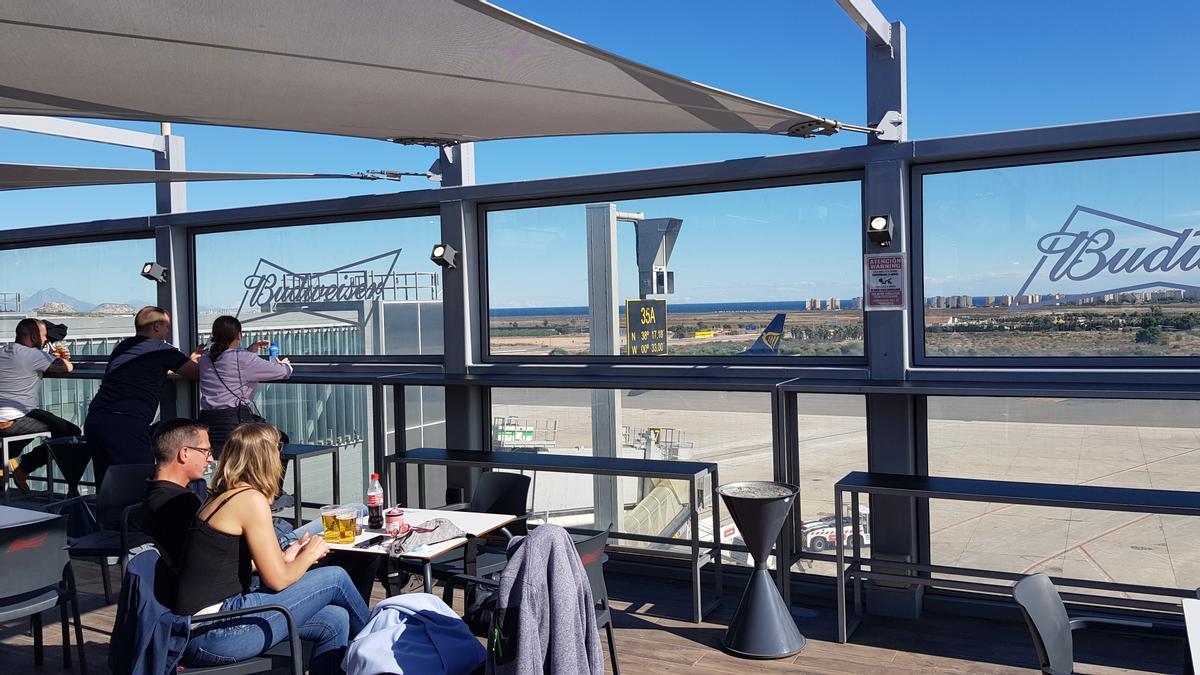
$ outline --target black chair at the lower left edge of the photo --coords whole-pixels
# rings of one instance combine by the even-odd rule
[[[71,668],[67,605],[74,617],[79,671],[88,673],[79,596],[67,556],[67,521],[49,518],[0,530],[0,622],[29,617],[34,633],[34,664],[42,664],[42,613],[59,608],[62,621],[62,665]],[[11,665],[11,664],[10,664]]]

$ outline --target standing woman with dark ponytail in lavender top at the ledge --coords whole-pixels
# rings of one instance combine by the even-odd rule
[[[259,358],[258,350],[269,344],[262,340],[242,348],[240,321],[218,316],[212,322],[212,345],[200,357],[200,422],[209,425],[214,455],[220,456],[235,426],[262,419],[251,410],[258,383],[292,376],[288,359]]]

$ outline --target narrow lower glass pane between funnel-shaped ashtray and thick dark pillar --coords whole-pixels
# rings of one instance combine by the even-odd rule
[[[833,485],[851,471],[866,471],[866,399],[842,394],[798,394],[800,450],[800,549],[832,554],[838,530],[833,518]],[[870,508],[859,507],[859,537],[870,555]],[[846,506],[848,518],[850,506]],[[844,536],[851,536],[848,521]],[[850,539],[847,539],[850,543]],[[796,572],[834,575],[833,562],[802,560]]]

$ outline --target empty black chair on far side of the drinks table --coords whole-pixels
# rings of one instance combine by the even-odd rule
[[[488,471],[479,477],[475,491],[470,501],[466,503],[446,504],[442,510],[469,510],[474,513],[496,513],[515,515],[517,520],[504,530],[511,538],[516,534],[528,532],[528,501],[529,501],[529,477],[520,473],[504,473]],[[433,578],[443,583],[443,597],[450,604],[454,593],[454,581],[456,577],[467,573],[468,546],[475,556],[475,575],[487,577],[504,571],[508,565],[508,556],[502,546],[492,546],[470,542],[467,546],[457,548],[433,558]],[[420,566],[406,561],[397,561],[396,566],[404,572],[421,574]]]

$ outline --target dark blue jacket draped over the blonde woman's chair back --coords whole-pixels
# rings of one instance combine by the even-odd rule
[[[130,558],[116,603],[108,668],[116,675],[174,675],[187,646],[191,617],[176,616],[155,597],[158,550]]]

